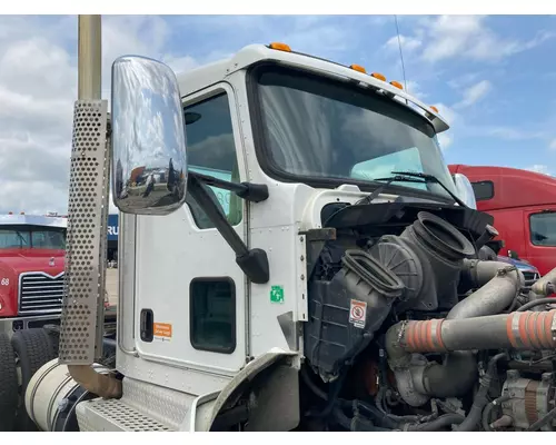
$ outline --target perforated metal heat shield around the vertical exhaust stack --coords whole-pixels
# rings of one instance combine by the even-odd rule
[[[59,360],[90,365],[102,353],[109,150],[106,100],[73,110],[66,274]]]

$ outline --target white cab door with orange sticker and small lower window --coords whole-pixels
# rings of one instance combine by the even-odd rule
[[[185,102],[190,170],[246,180],[236,99],[228,83]],[[245,202],[209,187],[246,241]],[[232,249],[190,197],[167,217],[138,218],[137,349],[141,357],[217,374],[246,363],[246,278]]]

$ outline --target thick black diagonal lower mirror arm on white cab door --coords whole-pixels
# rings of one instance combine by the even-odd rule
[[[191,174],[188,171],[187,191],[202,208],[207,217],[210,219],[226,239],[226,243],[231,247],[236,254],[236,263],[244,274],[258,285],[268,283],[270,279],[270,270],[268,267],[268,256],[262,249],[248,249],[239,235],[234,230],[234,227],[228,222],[220,208],[211,199],[208,194],[205,181],[198,177],[199,174]],[[203,176],[203,175],[201,175]],[[210,178],[210,177],[208,177]],[[266,187],[266,186],[265,186]]]

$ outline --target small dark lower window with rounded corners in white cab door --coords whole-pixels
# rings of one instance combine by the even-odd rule
[[[236,286],[231,278],[195,278],[189,286],[190,339],[196,349],[236,349]]]

